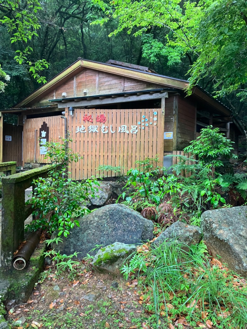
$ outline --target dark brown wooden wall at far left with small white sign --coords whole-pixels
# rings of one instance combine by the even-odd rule
[[[16,161],[16,166],[22,165],[22,126],[3,124],[3,162]],[[5,140],[11,136],[11,141]]]

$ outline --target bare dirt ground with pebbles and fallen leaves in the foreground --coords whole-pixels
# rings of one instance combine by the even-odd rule
[[[148,324],[155,325],[154,318],[142,307],[137,279],[126,282],[83,263],[74,277],[56,275],[47,266],[28,302],[9,310],[12,328],[154,328]]]

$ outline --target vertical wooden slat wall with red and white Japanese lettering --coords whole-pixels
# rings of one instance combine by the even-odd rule
[[[100,115],[105,116],[105,123],[96,122]],[[160,157],[159,165],[163,165],[163,121],[161,109],[75,109],[74,116],[68,116],[68,129],[73,139],[72,148],[79,153],[80,160],[72,164],[72,178],[115,176],[111,171],[99,172],[98,166],[121,166],[126,172],[135,167],[135,161],[154,158],[156,154]],[[128,133],[121,132],[121,126],[122,129],[126,126]],[[133,129],[131,133],[131,126],[137,126],[136,134]],[[90,132],[92,128],[96,131]]]

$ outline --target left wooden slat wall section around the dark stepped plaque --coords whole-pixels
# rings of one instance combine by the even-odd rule
[[[59,141],[59,136],[64,138],[64,119],[60,115],[26,119],[23,125],[23,164],[33,163],[35,159],[37,163],[49,162],[48,159],[44,159],[45,155],[40,154],[39,131],[43,122],[49,127],[49,141]],[[36,133],[35,129],[37,129]],[[35,134],[36,154],[34,154]]]

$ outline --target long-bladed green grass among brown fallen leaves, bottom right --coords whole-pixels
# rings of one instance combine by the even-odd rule
[[[122,273],[125,279],[138,273],[140,300],[156,315],[157,327],[160,320],[193,328],[247,326],[246,282],[210,259],[203,242],[189,252],[176,242],[144,245]]]

